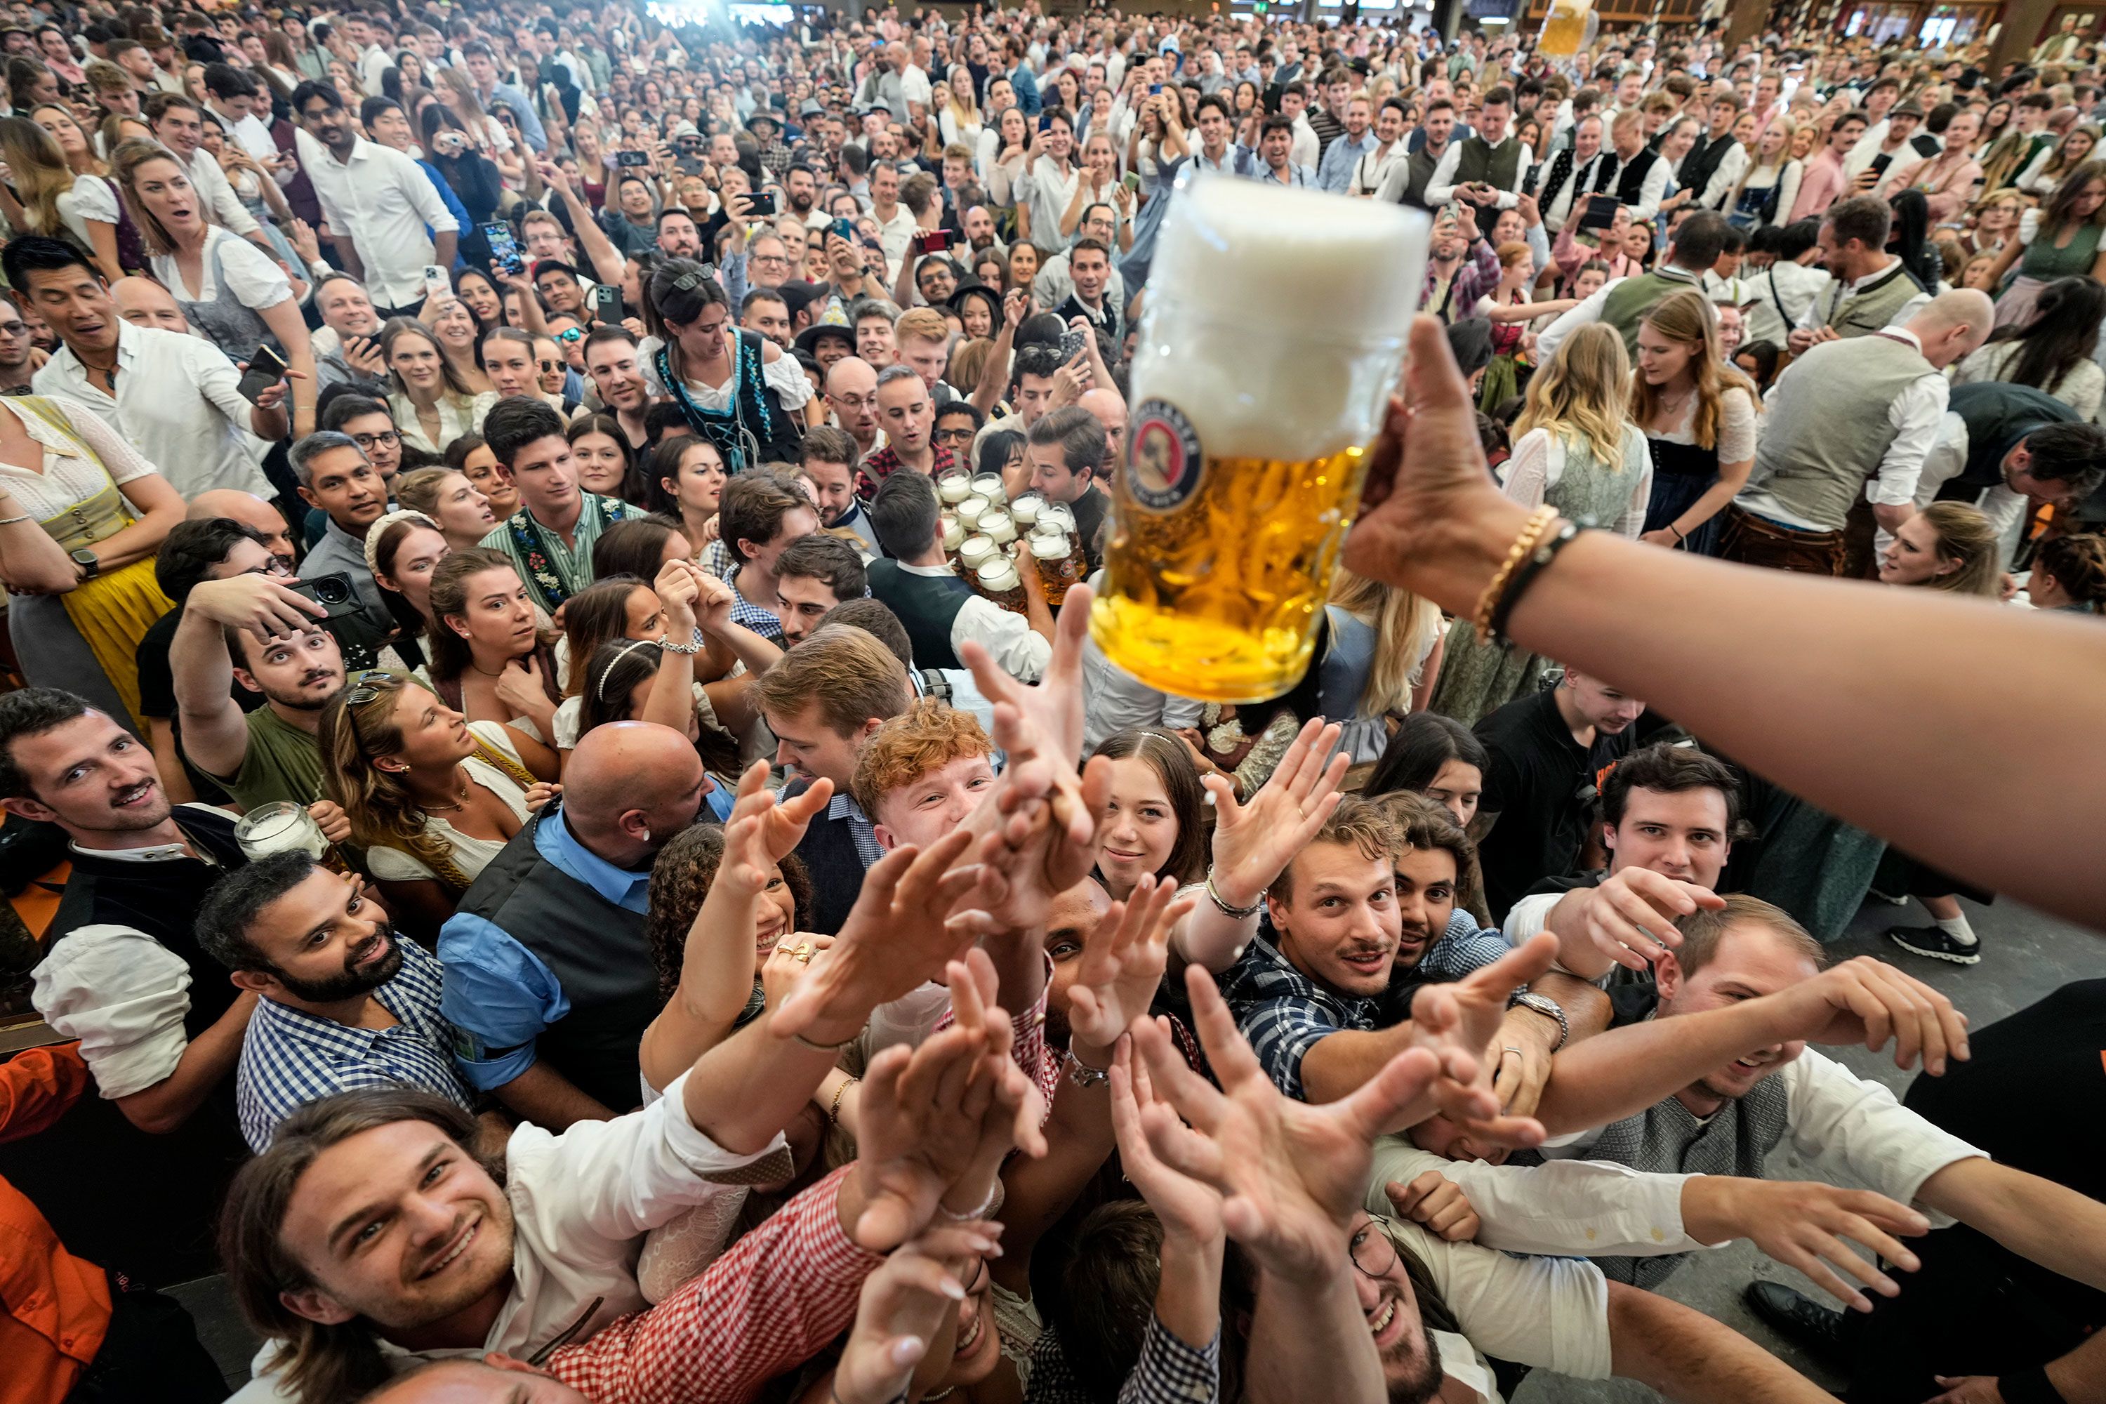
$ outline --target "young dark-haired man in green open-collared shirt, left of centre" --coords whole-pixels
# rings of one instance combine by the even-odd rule
[[[577,486],[577,459],[562,427],[562,415],[533,396],[499,400],[482,421],[499,476],[520,493],[520,509],[482,545],[512,558],[548,613],[592,583],[592,543],[600,533],[642,516],[625,501]]]

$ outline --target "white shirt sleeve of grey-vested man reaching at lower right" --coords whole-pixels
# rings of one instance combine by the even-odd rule
[[[1843,1189],[1874,1189],[1919,1208],[1933,1229],[1952,1227],[1952,1217],[1916,1204],[1916,1191],[1948,1164],[1986,1151],[1910,1111],[1883,1084],[1860,1078],[1813,1048],[1773,1076],[1784,1080],[1786,1095],[1780,1147],[1790,1147],[1815,1179]],[[1542,1154],[1546,1160],[1575,1158],[1601,1141],[1603,1130],[1596,1126],[1552,1137]]]

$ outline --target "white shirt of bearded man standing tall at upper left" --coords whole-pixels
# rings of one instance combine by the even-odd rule
[[[459,232],[459,221],[438,198],[423,166],[394,147],[358,137],[352,158],[339,162],[307,133],[295,133],[299,164],[314,181],[322,217],[337,236],[350,236],[364,263],[366,290],[381,307],[423,301],[423,265],[436,259],[432,236]]]

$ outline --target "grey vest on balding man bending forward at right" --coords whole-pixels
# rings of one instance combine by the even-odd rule
[[[1893,444],[1887,406],[1933,366],[1900,337],[1857,337],[1824,341],[1788,375],[1763,417],[1750,486],[1822,530],[1843,530],[1864,480]]]

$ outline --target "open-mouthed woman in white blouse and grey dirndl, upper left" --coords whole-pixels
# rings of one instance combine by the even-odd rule
[[[204,198],[166,147],[126,141],[110,164],[139,225],[147,265],[190,326],[238,362],[259,345],[278,352],[293,368],[293,434],[314,434],[320,389],[314,343],[284,269],[249,240],[206,223]]]

